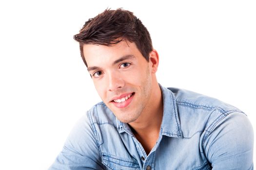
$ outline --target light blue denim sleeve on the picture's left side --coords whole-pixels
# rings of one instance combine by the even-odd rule
[[[87,115],[73,128],[49,170],[103,170]]]

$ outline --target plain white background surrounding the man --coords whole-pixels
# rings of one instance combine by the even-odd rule
[[[228,102],[256,131],[255,0],[0,2],[0,170],[46,170],[97,92],[73,35],[107,7],[142,20],[158,82]]]

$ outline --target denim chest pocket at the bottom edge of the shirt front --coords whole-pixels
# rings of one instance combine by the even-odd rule
[[[140,170],[136,160],[126,159],[107,153],[102,153],[102,163],[109,170]]]

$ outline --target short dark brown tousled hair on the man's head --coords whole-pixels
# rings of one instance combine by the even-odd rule
[[[74,35],[79,42],[80,53],[84,64],[84,44],[113,46],[122,40],[134,42],[149,61],[149,53],[153,50],[150,34],[142,22],[132,12],[118,8],[106,9],[103,13],[85,22],[79,34]]]

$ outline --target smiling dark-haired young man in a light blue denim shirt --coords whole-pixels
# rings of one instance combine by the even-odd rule
[[[253,170],[253,129],[234,106],[158,84],[158,52],[129,11],[105,10],[74,38],[102,102],[50,170]]]

